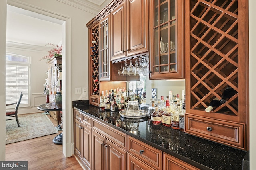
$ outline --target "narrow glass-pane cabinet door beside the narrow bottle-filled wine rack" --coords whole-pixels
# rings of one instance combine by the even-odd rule
[[[100,21],[100,80],[110,80],[109,17]]]

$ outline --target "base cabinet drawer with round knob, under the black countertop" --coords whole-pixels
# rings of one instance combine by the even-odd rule
[[[128,136],[128,152],[143,160],[146,164],[161,169],[162,151],[158,150],[138,139]]]

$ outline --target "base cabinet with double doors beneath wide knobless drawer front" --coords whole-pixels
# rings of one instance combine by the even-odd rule
[[[93,169],[126,170],[126,134],[93,120]]]

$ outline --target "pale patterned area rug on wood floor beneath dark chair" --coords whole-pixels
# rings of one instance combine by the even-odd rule
[[[18,127],[16,119],[6,121],[5,144],[58,133],[45,114],[31,113],[18,115],[18,119],[20,127]]]

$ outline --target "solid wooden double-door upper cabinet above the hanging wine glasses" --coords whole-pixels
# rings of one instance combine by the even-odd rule
[[[110,15],[111,61],[148,52],[148,0],[126,0]]]

